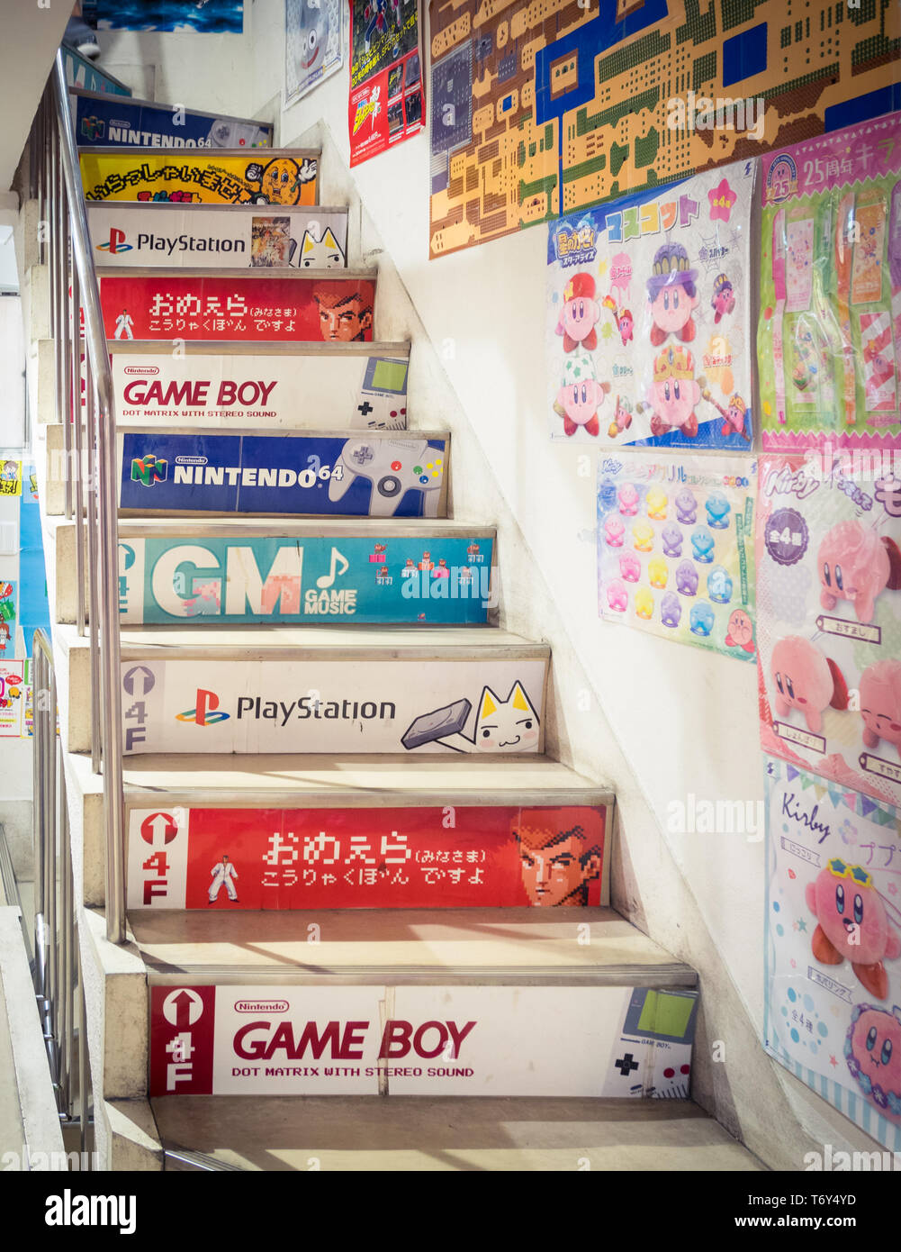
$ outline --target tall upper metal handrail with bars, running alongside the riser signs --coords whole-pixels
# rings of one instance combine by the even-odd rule
[[[121,764],[121,651],[119,642],[119,535],[118,468],[115,461],[115,403],[100,310],[100,290],[91,259],[88,213],[78,150],[69,111],[69,91],[61,51],[56,54],[49,83],[46,121],[51,136],[44,165],[45,193],[50,197],[51,283],[54,338],[58,342],[58,407],[66,452],[66,513],[74,511],[78,578],[78,630],[85,620],[91,651],[91,687],[98,694],[91,719],[94,771],[103,765],[106,826],[106,936],[125,942],[125,845]],[[59,158],[56,160],[55,158]],[[60,177],[61,175],[61,177]],[[66,212],[68,210],[68,212]],[[71,297],[69,295],[70,255]],[[88,424],[88,583],[90,616],[85,613],[83,493],[83,432],[79,308],[84,312],[85,409]],[[71,429],[70,429],[71,421]],[[70,436],[74,433],[74,448]],[[73,461],[74,453],[74,461]],[[96,477],[94,476],[96,471]],[[71,481],[75,482],[74,510]],[[96,507],[94,507],[96,500]]]

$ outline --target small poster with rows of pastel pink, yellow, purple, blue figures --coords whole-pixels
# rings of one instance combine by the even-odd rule
[[[756,483],[747,458],[602,457],[603,621],[753,661]]]

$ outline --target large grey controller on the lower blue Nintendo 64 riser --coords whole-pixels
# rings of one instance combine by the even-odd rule
[[[437,517],[445,459],[447,444],[428,439],[348,439],[339,457],[345,472],[329,480],[329,500],[342,500],[360,477],[372,483],[370,517],[392,517],[408,491],[423,493],[423,517]]]

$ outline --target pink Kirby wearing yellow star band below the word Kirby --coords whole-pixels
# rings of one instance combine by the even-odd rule
[[[817,919],[811,952],[821,965],[850,960],[860,983],[883,1000],[888,994],[885,960],[901,957],[901,936],[888,921],[882,896],[860,865],[833,856],[805,889]]]

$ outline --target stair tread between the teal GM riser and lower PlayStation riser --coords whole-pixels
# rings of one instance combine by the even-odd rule
[[[70,652],[88,650],[90,641],[80,636],[74,626],[58,626],[58,641]],[[486,651],[496,656],[512,654],[514,659],[548,657],[549,645],[536,644],[499,630],[496,626],[474,629],[473,626],[368,626],[352,622],[340,626],[210,626],[208,631],[198,632],[196,626],[123,626],[120,630],[123,661],[148,659],[161,660],[209,656],[235,651],[242,660],[254,660],[257,654],[287,660],[303,661],[307,654],[317,654],[315,659],[339,660],[342,656],[365,659],[369,651],[403,654],[415,652],[423,659],[448,657],[454,652],[468,656],[473,651],[483,655]],[[319,655],[328,652],[328,656]],[[214,657],[215,659],[215,657]]]

